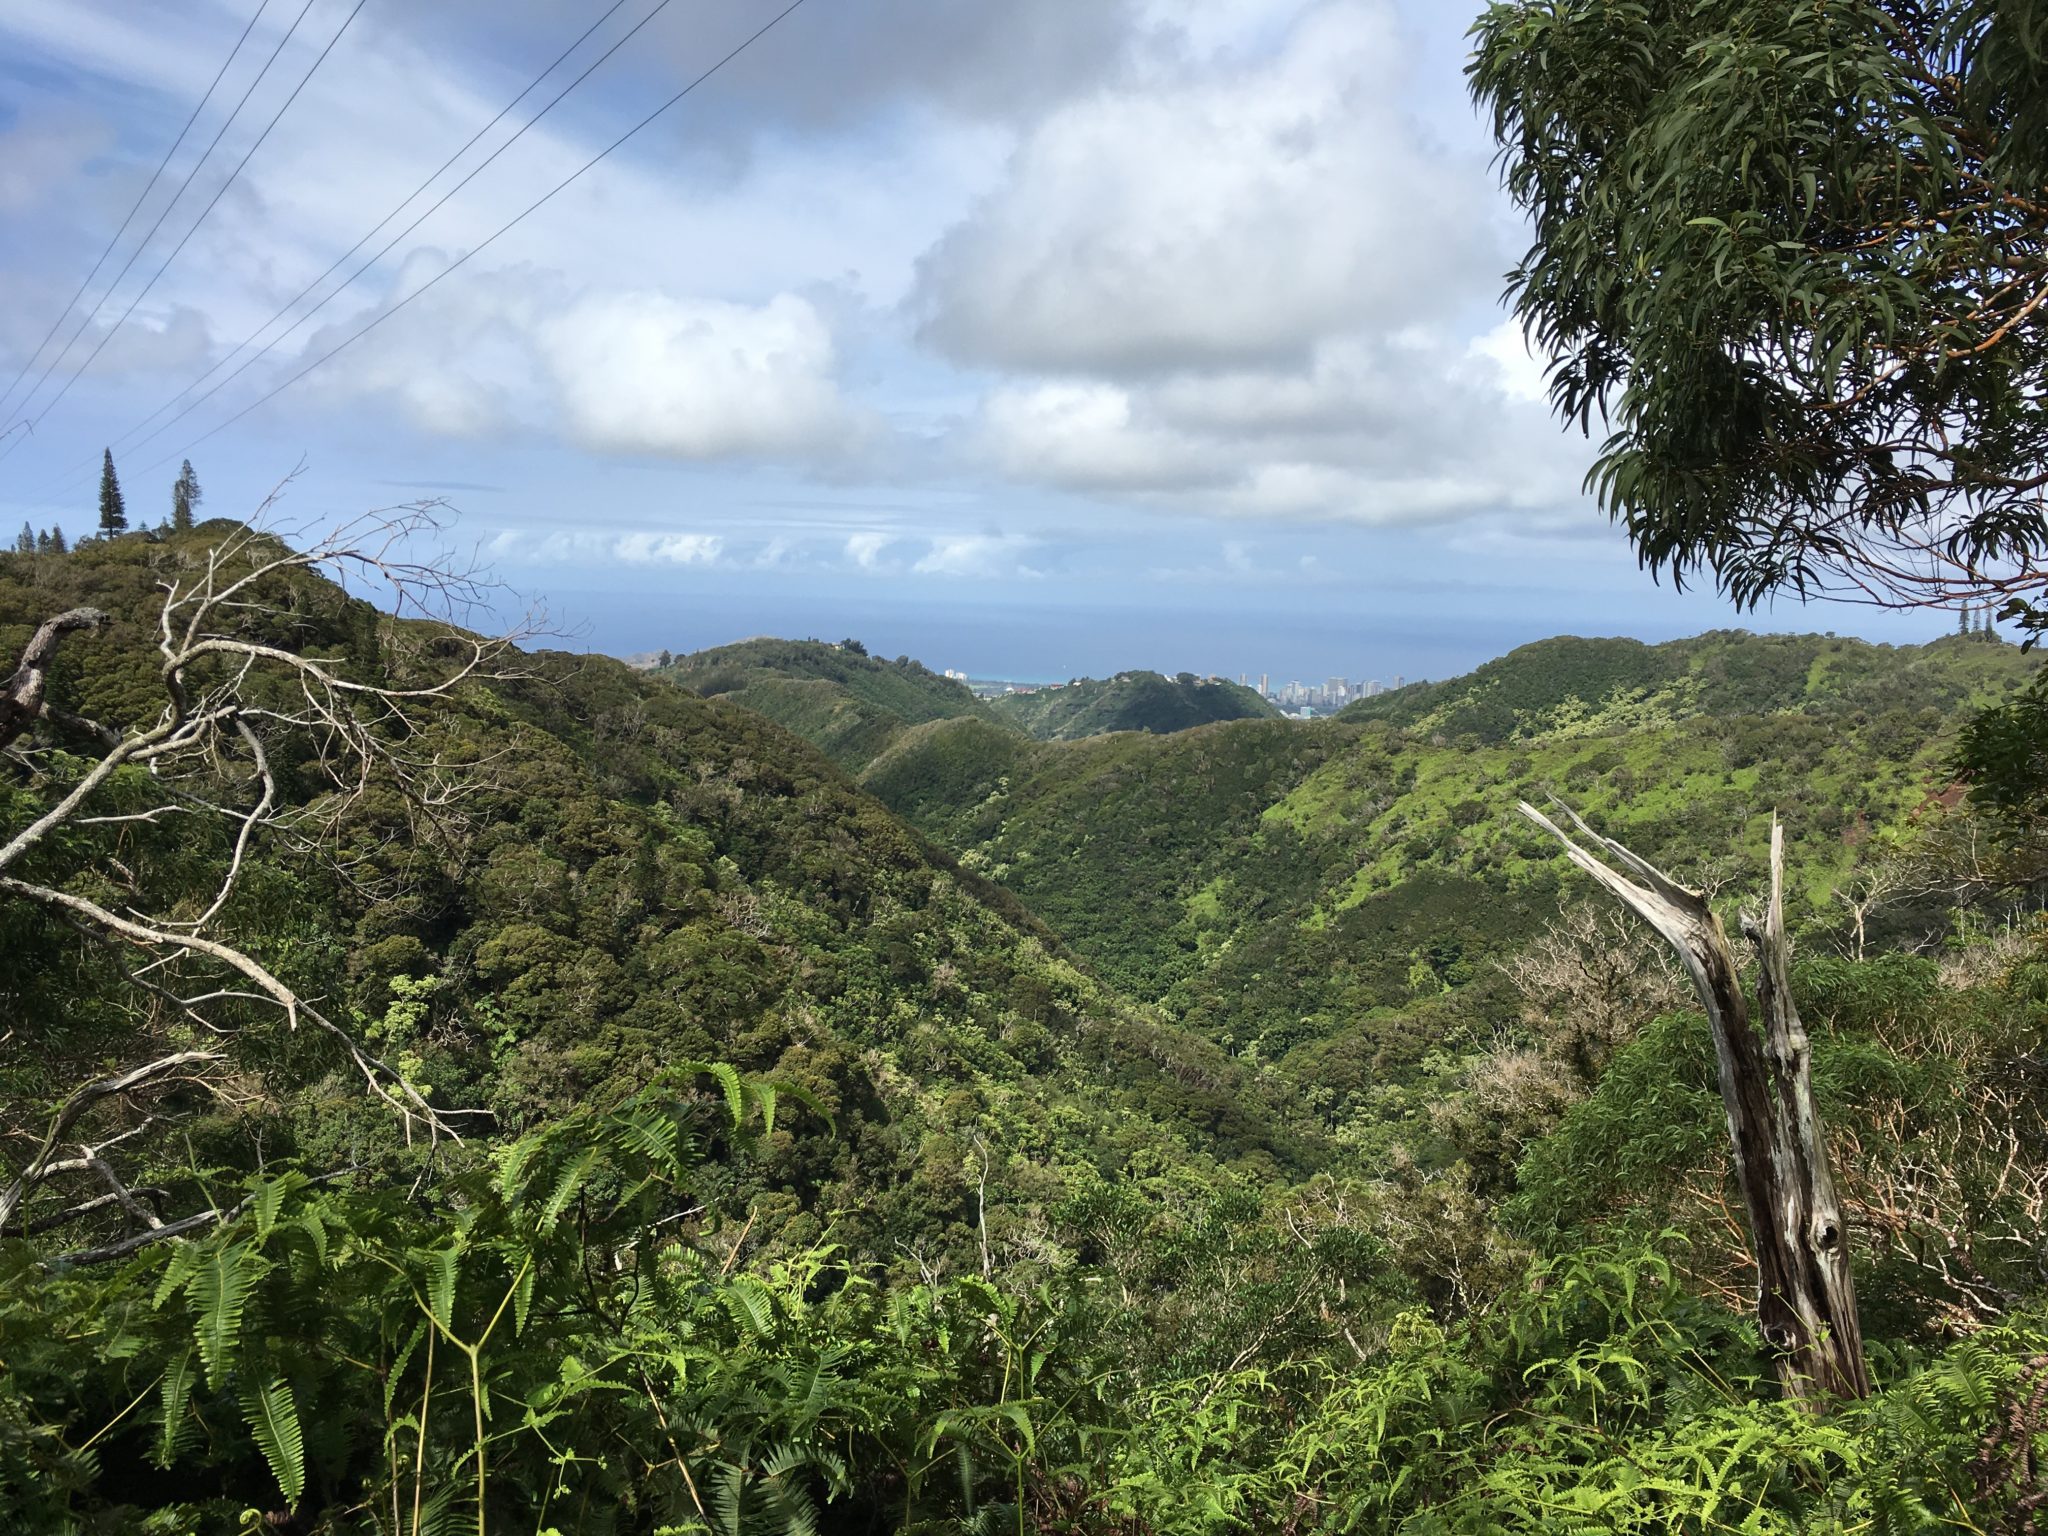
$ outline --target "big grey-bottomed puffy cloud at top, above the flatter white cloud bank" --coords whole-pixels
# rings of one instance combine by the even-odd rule
[[[1237,55],[1069,102],[922,264],[924,336],[993,367],[1272,365],[1462,301],[1485,186],[1405,123],[1393,10],[1307,12]],[[1491,274],[1491,272],[1489,272]]]

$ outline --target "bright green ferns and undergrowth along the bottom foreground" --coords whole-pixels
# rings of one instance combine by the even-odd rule
[[[1626,1081],[1690,1075],[1645,1051]],[[1903,1534],[2019,1528],[2044,1489],[2040,1313],[1888,1331],[1882,1391],[1817,1415],[1688,1280],[1710,1225],[1438,1317],[1327,1192],[1104,1190],[1036,1276],[739,1270],[698,1198],[762,1110],[676,1073],[418,1198],[262,1176],[203,1241],[16,1268],[0,1497],[25,1530]],[[1597,1182],[1577,1147],[1538,1192]]]

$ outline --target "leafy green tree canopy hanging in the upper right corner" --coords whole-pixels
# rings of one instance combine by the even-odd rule
[[[1509,293],[1645,565],[1745,606],[2040,600],[2044,49],[2038,0],[1487,8]]]

